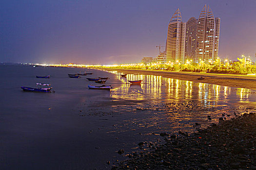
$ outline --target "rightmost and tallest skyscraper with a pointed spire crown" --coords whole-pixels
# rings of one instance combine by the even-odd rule
[[[220,18],[204,5],[197,21],[197,49],[195,62],[215,60],[218,56]]]

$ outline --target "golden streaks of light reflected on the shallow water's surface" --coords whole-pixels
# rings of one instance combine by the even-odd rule
[[[121,87],[110,93],[113,100],[112,112],[138,114],[126,120],[125,126],[131,129],[136,129],[134,122],[137,122],[139,127],[152,128],[152,131],[161,129],[175,133],[182,130],[191,133],[196,130],[195,122],[199,122],[202,127],[217,123],[221,117],[231,119],[238,109],[238,102],[250,102],[251,98],[255,98],[250,95],[254,94],[250,89],[154,75],[128,74],[124,78],[119,76],[123,73],[110,72],[118,75],[118,79],[123,82]],[[128,80],[143,82],[140,85],[130,85]],[[207,116],[212,119],[207,119]],[[118,127],[120,126],[121,123]]]

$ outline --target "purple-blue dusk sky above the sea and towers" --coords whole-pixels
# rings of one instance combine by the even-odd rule
[[[221,18],[219,56],[256,61],[256,0],[4,0],[0,62],[140,62],[165,45],[177,8],[186,22],[205,3]]]

